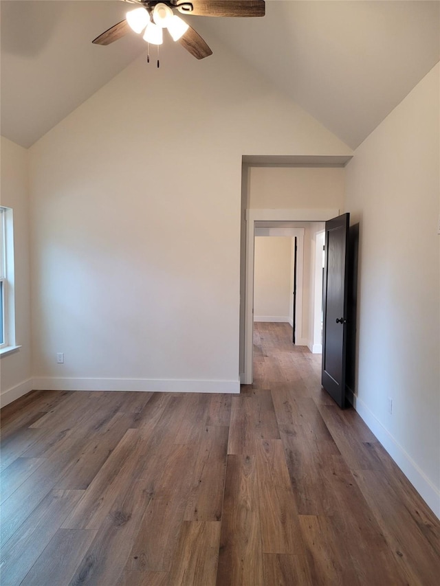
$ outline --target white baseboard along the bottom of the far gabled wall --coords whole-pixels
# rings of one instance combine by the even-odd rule
[[[240,381],[186,381],[181,379],[71,379],[35,377],[37,391],[136,391],[170,393],[239,393]]]

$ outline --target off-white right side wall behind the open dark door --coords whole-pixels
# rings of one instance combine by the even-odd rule
[[[347,166],[360,223],[356,409],[437,515],[439,89],[437,65]]]

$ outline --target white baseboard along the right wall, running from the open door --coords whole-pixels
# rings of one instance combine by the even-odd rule
[[[376,418],[373,412],[371,412],[371,409],[365,405],[364,401],[353,394],[351,390],[347,391],[349,402],[362,417],[366,425],[373,431],[376,438],[388,454],[391,455],[391,458],[393,458],[397,466],[399,466],[399,469],[408,478],[422,499],[440,519],[440,489],[432,484],[430,479],[417,466],[416,462],[412,460],[410,455],[406,453],[388,429]]]

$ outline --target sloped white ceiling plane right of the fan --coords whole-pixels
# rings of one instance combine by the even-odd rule
[[[343,142],[356,148],[440,58],[437,0],[267,0],[264,19],[203,19]]]

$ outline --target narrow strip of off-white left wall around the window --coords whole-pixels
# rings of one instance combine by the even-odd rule
[[[1,205],[14,216],[15,334],[19,350],[0,359],[1,405],[32,390],[28,151],[1,137]]]

